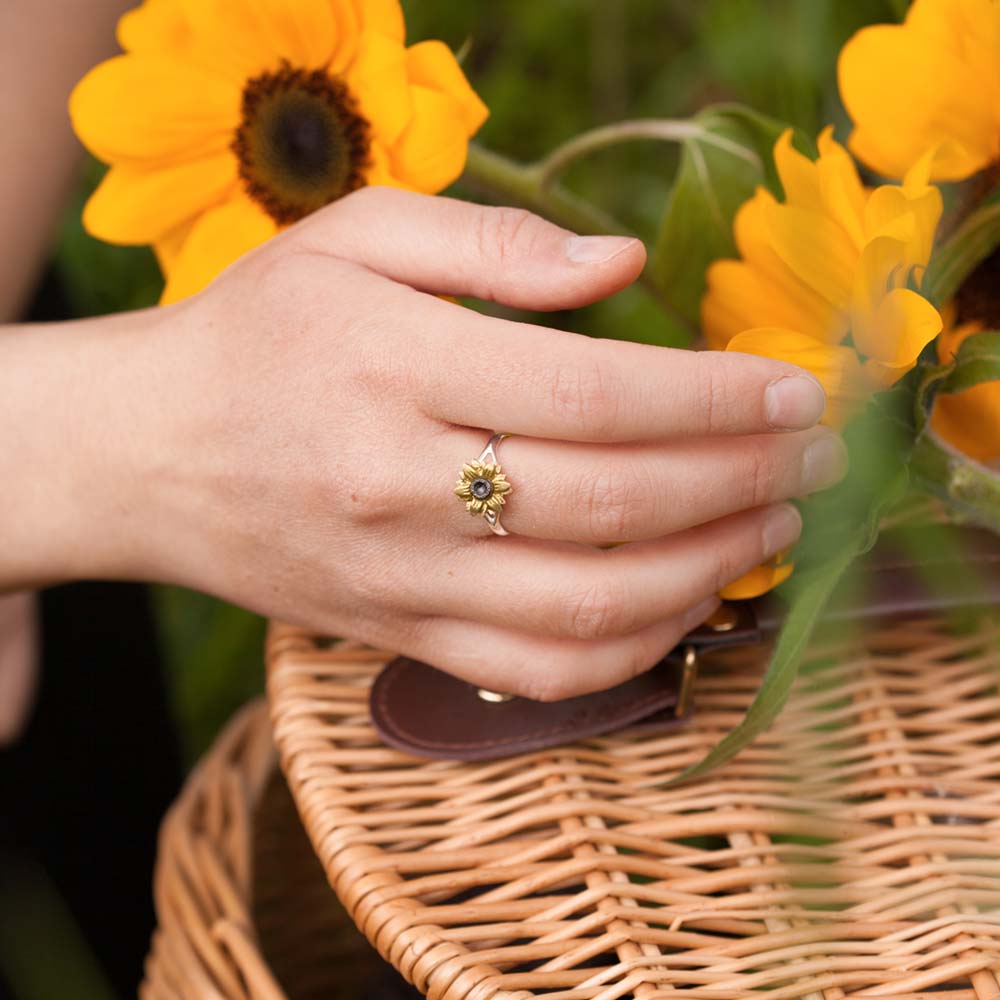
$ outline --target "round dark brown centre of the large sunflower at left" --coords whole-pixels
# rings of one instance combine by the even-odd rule
[[[286,63],[247,81],[232,148],[247,193],[287,225],[364,184],[368,132],[340,80]]]

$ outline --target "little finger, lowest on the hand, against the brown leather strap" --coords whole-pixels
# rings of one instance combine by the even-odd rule
[[[472,684],[534,701],[603,691],[658,663],[718,606],[600,642],[546,639],[459,619],[432,618],[413,630],[408,655]]]

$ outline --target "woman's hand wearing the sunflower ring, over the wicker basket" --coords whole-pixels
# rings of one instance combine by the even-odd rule
[[[80,503],[104,518],[90,530],[115,535],[93,569],[531,698],[648,668],[721,587],[796,540],[782,501],[842,475],[839,439],[814,426],[822,390],[764,358],[593,340],[436,297],[570,309],[643,260],[636,240],[368,189],[142,329],[101,331],[117,373],[104,391],[121,398],[105,403],[118,426],[81,431],[114,484],[109,501],[93,466],[85,477]],[[514,435],[499,450],[507,538],[453,493],[494,430]],[[598,547],[611,542],[631,544]]]

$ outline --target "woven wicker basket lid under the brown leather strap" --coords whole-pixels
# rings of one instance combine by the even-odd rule
[[[275,740],[331,885],[432,1000],[1000,997],[1000,626],[821,637],[780,722],[671,788],[760,650],[713,656],[681,729],[489,764],[383,747],[383,659],[273,629]]]

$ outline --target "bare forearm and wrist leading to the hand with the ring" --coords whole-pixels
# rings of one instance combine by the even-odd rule
[[[148,315],[0,328],[0,592],[141,574]]]

